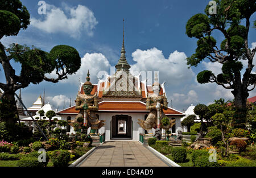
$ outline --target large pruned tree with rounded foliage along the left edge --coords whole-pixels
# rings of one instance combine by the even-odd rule
[[[20,29],[26,30],[29,24],[30,14],[19,0],[0,1],[0,40],[3,36],[18,35]],[[15,73],[11,61],[20,64],[20,74]],[[77,72],[81,67],[81,57],[75,48],[68,45],[57,45],[50,52],[46,52],[34,46],[20,44],[11,44],[6,48],[0,42],[0,64],[6,78],[6,84],[0,82],[0,88],[5,92],[4,98],[13,106],[10,110],[16,113],[16,90],[26,88],[31,83],[56,83],[68,78],[68,74]],[[48,78],[46,74],[53,71],[57,77]],[[15,119],[10,116],[7,122],[15,122]]]

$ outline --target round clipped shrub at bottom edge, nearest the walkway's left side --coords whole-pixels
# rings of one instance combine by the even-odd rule
[[[51,161],[54,167],[66,167],[70,158],[70,153],[67,150],[55,150],[51,154]]]

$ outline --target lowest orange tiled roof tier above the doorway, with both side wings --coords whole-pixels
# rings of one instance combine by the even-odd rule
[[[125,101],[102,101],[98,105],[99,112],[109,112],[109,111],[126,111],[126,112],[149,112],[146,110],[146,104],[143,102],[125,102]],[[75,110],[75,106],[69,107],[67,109],[61,110],[58,114],[77,114],[79,111]],[[164,113],[167,115],[184,115],[180,111],[174,110],[168,107],[167,110],[164,110]]]

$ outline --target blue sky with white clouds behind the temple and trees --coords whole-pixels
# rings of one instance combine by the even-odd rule
[[[220,97],[232,99],[230,90],[216,84],[197,84],[196,74],[204,69],[220,71],[220,65],[207,60],[197,68],[187,69],[185,58],[196,49],[196,39],[185,35],[185,24],[192,15],[203,13],[209,1],[178,0],[96,0],[96,1],[45,1],[46,15],[38,14],[38,1],[22,0],[31,15],[27,30],[18,36],[1,39],[4,45],[19,43],[35,45],[45,51],[59,44],[75,47],[82,57],[80,72],[57,84],[41,82],[22,90],[26,106],[46,89],[47,100],[63,109],[75,100],[79,86],[78,78],[84,81],[86,69],[90,69],[91,80],[97,83],[97,72],[109,72],[117,64],[122,44],[122,19],[125,19],[126,59],[134,70],[160,71],[160,82],[166,81],[169,104],[175,109],[186,110],[191,104],[209,104]],[[72,14],[73,12],[73,14]],[[76,15],[79,14],[79,15]],[[251,22],[255,20],[251,16]],[[64,18],[59,18],[64,17]],[[72,20],[71,20],[72,19]],[[214,33],[217,41],[224,37]],[[256,45],[256,34],[250,29],[249,45]],[[145,58],[145,56],[150,58]],[[255,60],[254,60],[255,63]],[[16,73],[19,65],[12,63]],[[170,65],[167,67],[166,65]],[[1,67],[0,67],[1,68]],[[85,71],[85,72],[84,72]],[[254,70],[255,71],[255,70]],[[0,82],[5,82],[3,70]],[[255,96],[255,91],[250,97]],[[57,100],[57,101],[56,101]],[[68,104],[67,104],[68,103]]]

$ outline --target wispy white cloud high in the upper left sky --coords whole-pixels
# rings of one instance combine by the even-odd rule
[[[93,36],[93,29],[97,25],[97,20],[93,11],[86,6],[60,7],[47,5],[46,17],[41,19],[31,18],[31,26],[48,33],[64,32],[73,38],[78,38],[81,34]],[[65,13],[64,13],[65,11]]]

